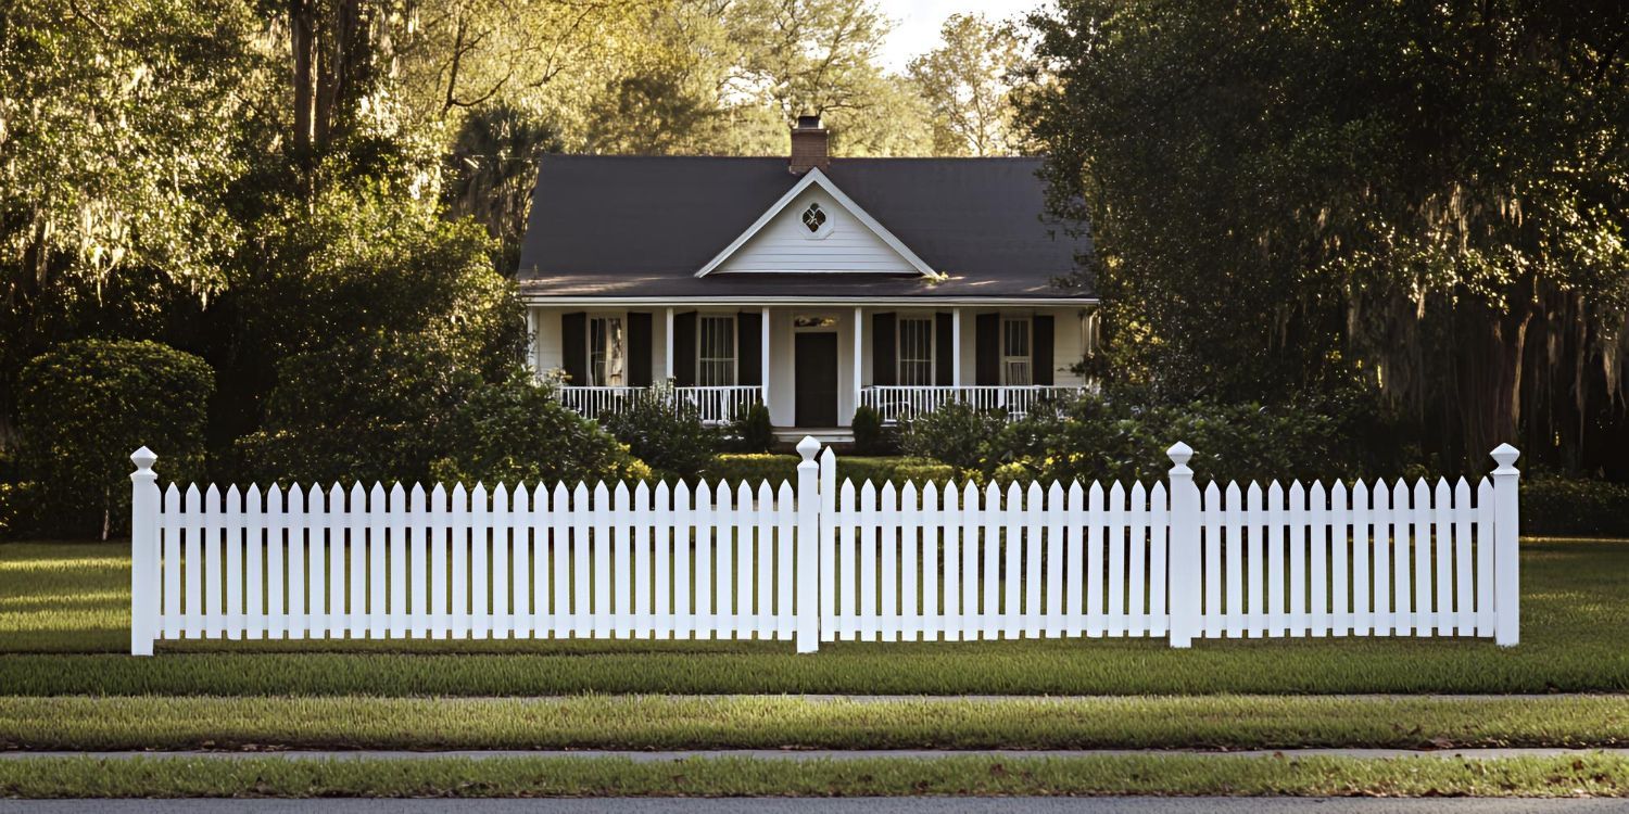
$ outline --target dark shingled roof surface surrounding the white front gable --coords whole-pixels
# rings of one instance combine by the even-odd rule
[[[836,158],[828,177],[948,280],[696,272],[800,181],[785,158],[541,161],[520,280],[533,296],[1091,298],[1087,239],[1044,217],[1038,158]]]

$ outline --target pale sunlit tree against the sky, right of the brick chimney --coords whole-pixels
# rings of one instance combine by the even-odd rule
[[[984,15],[951,15],[942,46],[911,60],[907,73],[933,116],[937,155],[1012,155],[1018,151],[1008,99],[1025,68],[1025,44],[1010,23]]]

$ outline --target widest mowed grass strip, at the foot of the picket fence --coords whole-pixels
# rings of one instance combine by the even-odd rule
[[[135,659],[122,544],[0,545],[15,695],[1629,692],[1629,540],[1523,540],[1521,645],[1443,638],[976,643],[184,641]],[[267,658],[266,653],[280,653]],[[582,658],[582,656],[595,658]]]

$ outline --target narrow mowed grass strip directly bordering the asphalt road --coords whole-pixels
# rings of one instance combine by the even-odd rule
[[[1225,755],[862,760],[279,757],[0,760],[11,798],[609,798],[609,796],[1626,796],[1629,759]]]

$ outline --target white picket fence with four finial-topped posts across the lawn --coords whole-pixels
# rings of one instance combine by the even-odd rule
[[[130,651],[181,638],[1518,640],[1517,449],[1466,482],[274,485],[132,461]],[[1474,500],[1473,500],[1474,498]]]

